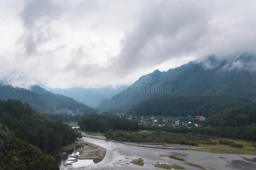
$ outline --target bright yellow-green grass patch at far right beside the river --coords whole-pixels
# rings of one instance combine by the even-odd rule
[[[205,152],[212,152],[212,153],[228,153],[228,154],[250,154],[256,155],[256,141],[246,141],[241,139],[230,139],[230,138],[217,138],[211,139],[211,141],[218,142],[219,139],[224,139],[228,141],[232,141],[237,144],[243,145],[242,148],[232,147],[230,145],[205,145],[199,143],[198,147],[193,147],[192,150],[195,151],[205,151]]]

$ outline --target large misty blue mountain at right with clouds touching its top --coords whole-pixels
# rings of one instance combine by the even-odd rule
[[[230,57],[231,58],[231,57]],[[221,96],[254,100],[256,97],[256,57],[240,54],[219,60],[189,62],[168,71],[143,75],[130,87],[98,107],[102,111],[128,111],[151,97]]]

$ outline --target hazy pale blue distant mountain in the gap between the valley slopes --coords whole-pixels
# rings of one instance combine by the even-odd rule
[[[76,101],[89,105],[89,107],[97,107],[102,100],[110,99],[112,96],[125,90],[128,86],[104,86],[100,88],[73,87],[73,88],[49,88],[46,90],[55,94],[72,97]]]

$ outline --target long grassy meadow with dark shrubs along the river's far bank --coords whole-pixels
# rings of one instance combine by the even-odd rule
[[[99,135],[99,134],[95,134]],[[102,135],[102,134],[100,134]],[[256,155],[256,141],[246,141],[241,139],[216,138],[195,133],[167,133],[164,131],[113,131],[107,133],[108,139],[122,142],[143,142],[161,144],[181,144],[190,145],[190,150],[205,151],[221,154],[250,154]],[[219,144],[219,140],[242,145],[242,147],[232,147],[231,145]]]

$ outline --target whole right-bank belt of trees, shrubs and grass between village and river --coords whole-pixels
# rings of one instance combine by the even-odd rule
[[[228,109],[208,117],[206,128],[138,126],[131,118],[108,114],[85,116],[78,124],[91,136],[126,145],[256,155],[255,113],[255,109]]]

